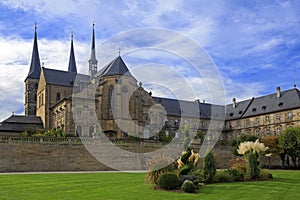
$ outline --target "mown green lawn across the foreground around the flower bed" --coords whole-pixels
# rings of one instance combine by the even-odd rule
[[[153,190],[144,173],[0,175],[0,199],[300,199],[300,171],[271,171],[272,181],[206,185],[198,194]]]

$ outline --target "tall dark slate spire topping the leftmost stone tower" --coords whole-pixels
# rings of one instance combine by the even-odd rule
[[[33,50],[32,50],[32,56],[31,56],[30,69],[29,69],[29,73],[27,75],[27,78],[34,78],[34,79],[40,78],[40,73],[41,73],[41,62],[40,62],[38,45],[37,45],[36,29],[37,29],[37,26],[36,26],[36,23],[34,23]]]

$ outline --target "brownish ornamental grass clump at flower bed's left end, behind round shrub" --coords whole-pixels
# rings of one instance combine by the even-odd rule
[[[148,172],[145,180],[146,182],[157,184],[158,178],[161,174],[174,171],[175,166],[170,157],[153,157],[148,163]]]

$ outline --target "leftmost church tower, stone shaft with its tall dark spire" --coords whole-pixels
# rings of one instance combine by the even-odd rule
[[[29,73],[25,79],[25,115],[36,115],[36,94],[41,73],[41,63],[37,45],[36,24]]]

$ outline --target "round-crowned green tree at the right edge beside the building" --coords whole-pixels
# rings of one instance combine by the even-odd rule
[[[285,153],[292,158],[294,167],[297,167],[297,158],[300,157],[300,127],[287,128],[278,139]]]

